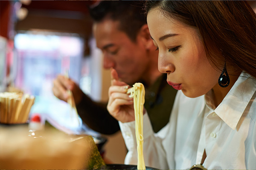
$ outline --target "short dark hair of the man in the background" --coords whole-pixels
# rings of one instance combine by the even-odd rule
[[[140,1],[101,1],[90,7],[90,16],[99,23],[106,18],[119,21],[119,30],[124,31],[132,41],[136,41],[140,28],[146,24]]]

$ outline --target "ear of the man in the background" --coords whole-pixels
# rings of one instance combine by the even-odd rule
[[[152,46],[154,46],[154,43],[153,43],[153,40],[151,39],[147,24],[144,24],[140,28],[140,32],[138,35],[140,36],[139,38],[142,40],[142,43],[146,49],[149,50],[150,48],[152,48]]]

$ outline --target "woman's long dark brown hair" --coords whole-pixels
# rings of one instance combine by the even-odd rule
[[[227,67],[256,78],[256,14],[246,1],[146,1],[145,14],[151,8],[198,28],[207,59],[215,68],[222,69],[226,61]]]

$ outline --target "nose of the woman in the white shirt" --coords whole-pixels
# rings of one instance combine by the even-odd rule
[[[158,70],[161,73],[171,73],[175,71],[175,66],[173,65],[170,57],[164,55],[158,55]]]

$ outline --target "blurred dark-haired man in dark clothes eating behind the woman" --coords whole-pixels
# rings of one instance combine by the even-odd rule
[[[96,44],[103,53],[103,67],[113,68],[112,77],[128,85],[143,83],[144,107],[157,133],[169,121],[177,91],[167,84],[166,74],[158,71],[158,51],[141,7],[138,1],[102,1],[90,9],[90,14]],[[91,129],[103,134],[120,129],[106,103],[93,102],[71,79],[59,75],[54,80],[54,95],[67,101],[67,89],[73,92],[77,111]]]

